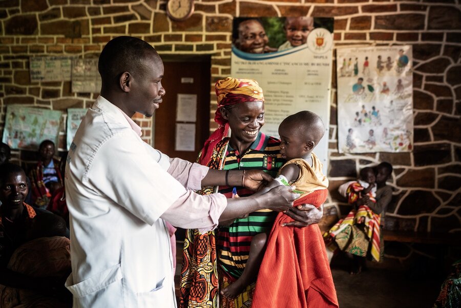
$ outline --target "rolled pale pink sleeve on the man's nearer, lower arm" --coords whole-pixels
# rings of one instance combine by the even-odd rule
[[[227,199],[222,194],[203,196],[188,190],[162,214],[161,218],[175,227],[206,232],[218,226],[218,219],[226,206]]]

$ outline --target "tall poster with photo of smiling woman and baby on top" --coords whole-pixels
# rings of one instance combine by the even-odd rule
[[[302,110],[326,128],[315,149],[327,170],[333,18],[234,18],[231,76],[258,81],[265,98],[261,131],[278,137],[280,122]]]

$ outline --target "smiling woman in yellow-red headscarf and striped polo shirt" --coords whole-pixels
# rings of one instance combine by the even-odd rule
[[[259,169],[275,176],[285,160],[280,154],[280,140],[260,131],[264,125],[264,96],[258,83],[251,79],[227,77],[216,83],[216,95],[218,108],[215,121],[219,127],[205,141],[198,161],[212,169]],[[232,186],[201,190],[202,194],[216,192],[228,198],[252,194],[243,187]],[[286,214],[296,221],[285,225],[305,227],[312,222],[317,223],[322,211],[304,204]],[[218,306],[218,292],[237,280],[247,262],[251,262],[248,255],[253,237],[269,232],[276,216],[276,212],[263,210],[235,221],[220,221],[216,232],[201,234],[198,230],[187,230],[179,306]],[[257,257],[262,258],[262,255]],[[220,295],[220,306],[248,306],[252,301],[257,274],[253,273],[255,280],[252,284],[236,292],[236,298]]]

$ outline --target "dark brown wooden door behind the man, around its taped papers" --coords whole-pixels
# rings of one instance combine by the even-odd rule
[[[162,85],[166,94],[154,115],[154,148],[170,157],[179,157],[195,162],[198,152],[209,136],[209,91],[210,67],[209,56],[189,57],[162,56],[165,71]],[[193,80],[193,81],[192,81]],[[191,82],[192,81],[192,82]],[[195,122],[194,151],[176,151],[176,111],[177,94],[197,95],[197,114]]]

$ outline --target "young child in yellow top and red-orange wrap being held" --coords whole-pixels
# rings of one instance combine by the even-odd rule
[[[313,112],[301,111],[284,119],[279,126],[280,153],[288,162],[265,190],[292,184],[296,186],[296,192],[301,194],[294,202],[295,206],[304,203],[322,206],[328,194],[328,179],[322,173],[321,161],[312,150],[324,133],[323,121]],[[316,298],[318,301],[315,302],[322,302],[325,307],[338,307],[318,225],[305,228],[285,227],[285,223],[290,220],[287,215],[280,213],[269,237],[267,234],[255,236],[254,240],[258,241],[259,247],[255,247],[252,241],[252,249],[242,276],[222,290],[224,296],[235,296],[236,291],[258,276],[252,304],[254,308],[298,306],[299,303],[306,302],[307,296],[309,299]],[[298,261],[293,262],[294,259]],[[315,281],[322,283],[316,284]],[[314,288],[309,288],[309,285]],[[305,292],[298,292],[299,297],[292,296],[300,288]]]

